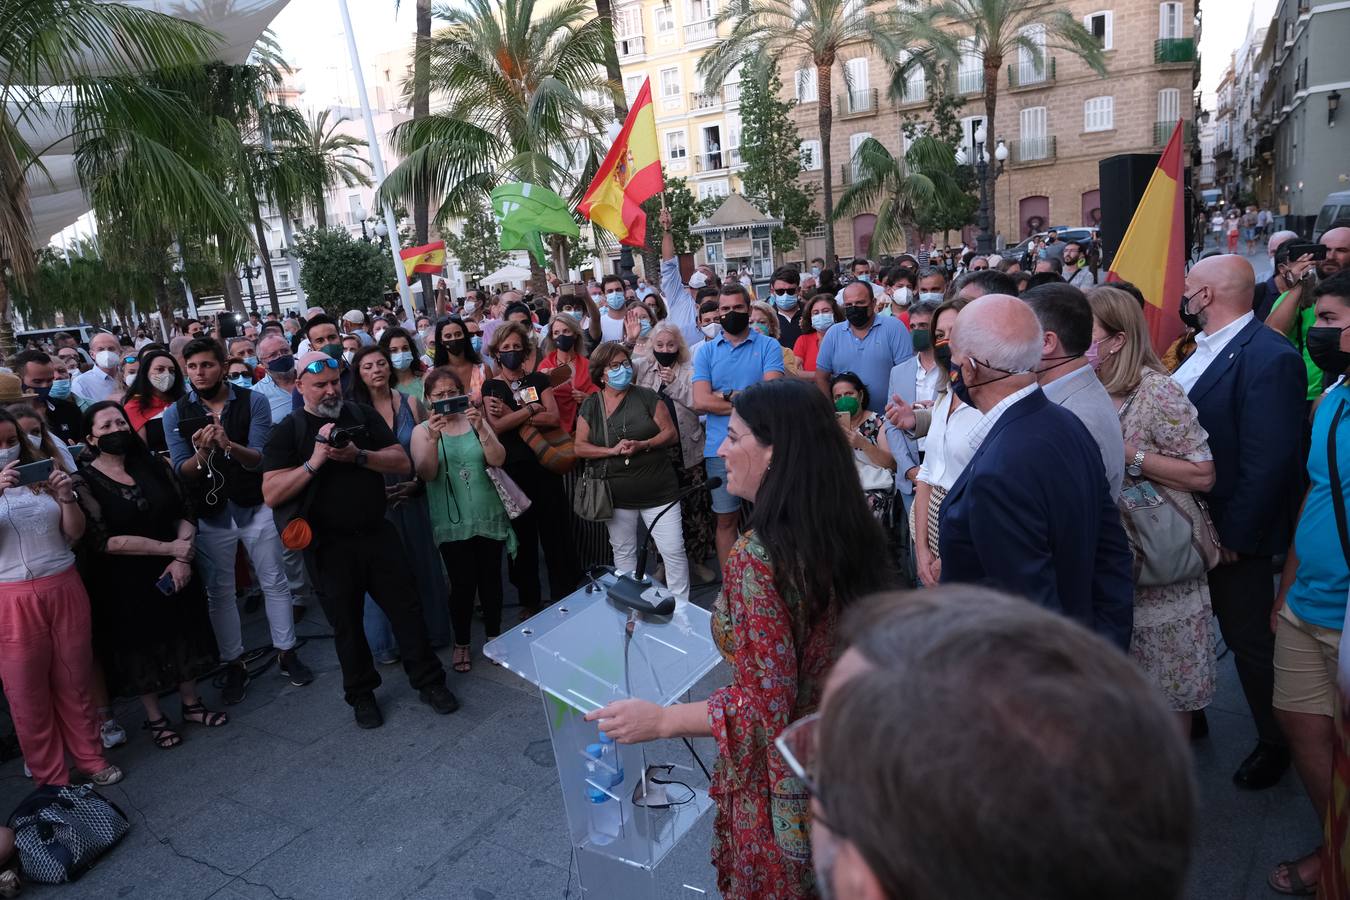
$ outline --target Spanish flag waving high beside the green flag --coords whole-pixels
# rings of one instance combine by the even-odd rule
[[[641,247],[647,243],[647,213],[641,204],[663,190],[652,80],[648,78],[576,209],[618,237],[618,243]]]

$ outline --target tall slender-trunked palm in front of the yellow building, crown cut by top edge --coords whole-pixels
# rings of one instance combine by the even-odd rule
[[[718,27],[732,30],[703,54],[698,70],[709,90],[722,86],[726,77],[749,58],[768,57],[776,65],[783,57],[805,51],[815,66],[815,121],[821,132],[825,220],[834,221],[833,162],[830,135],[834,111],[830,82],[834,63],[846,49],[865,53],[876,47],[894,59],[903,38],[900,20],[891,0],[734,0],[717,16]],[[842,72],[846,89],[848,70]],[[834,259],[834,229],[825,229],[825,259]]]

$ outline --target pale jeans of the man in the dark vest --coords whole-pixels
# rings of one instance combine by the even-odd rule
[[[219,525],[202,519],[197,528],[197,560],[207,582],[207,610],[224,661],[238,660],[244,652],[239,600],[235,599],[235,545],[240,542],[262,588],[271,645],[278,650],[296,646],[296,619],[290,611],[290,586],[281,559],[281,537],[271,510],[259,506],[246,525],[236,526],[228,519]]]

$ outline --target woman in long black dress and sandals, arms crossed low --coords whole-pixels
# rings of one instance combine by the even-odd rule
[[[117,403],[94,403],[85,420],[99,451],[81,468],[80,493],[94,648],[108,692],[138,695],[144,730],[167,750],[182,735],[159,704],[165,691],[178,691],[184,722],[213,729],[230,721],[197,694],[197,679],[220,664],[207,592],[192,571],[197,525],[182,484]]]

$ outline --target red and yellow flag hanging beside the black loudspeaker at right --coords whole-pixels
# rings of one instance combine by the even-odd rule
[[[1185,185],[1181,184],[1184,121],[1177,121],[1158,167],[1111,260],[1107,281],[1127,281],[1143,294],[1143,318],[1153,348],[1161,355],[1181,333],[1185,291]]]

